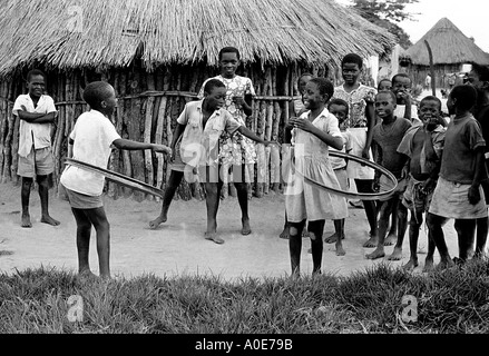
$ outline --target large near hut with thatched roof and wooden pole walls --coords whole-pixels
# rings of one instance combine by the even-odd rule
[[[325,76],[331,68],[334,73],[350,51],[366,58],[393,44],[385,31],[332,0],[4,0],[0,10],[3,182],[18,179],[19,122],[11,108],[32,67],[48,73],[47,90],[59,110],[52,132],[57,181],[67,136],[86,110],[82,88],[91,80],[116,88],[114,122],[123,137],[168,145],[185,102],[217,73],[219,49],[234,46],[242,53],[239,71],[252,78],[257,93],[247,126],[281,141],[300,72]],[[168,167],[160,156],[116,150],[109,168],[165,188]],[[258,196],[276,180],[278,168],[277,151],[262,152],[255,171]],[[188,199],[190,190],[183,184],[179,196]],[[115,185],[108,192],[130,194]]]

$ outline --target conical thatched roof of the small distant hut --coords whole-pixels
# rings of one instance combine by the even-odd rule
[[[477,62],[489,65],[489,55],[482,51],[472,39],[464,36],[449,19],[442,18],[404,55],[413,65],[429,66],[430,60],[424,40],[433,52],[433,65],[458,65]]]

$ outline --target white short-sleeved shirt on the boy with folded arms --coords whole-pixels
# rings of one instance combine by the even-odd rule
[[[19,116],[19,111],[22,110],[22,106],[28,112],[56,112],[56,116],[58,116],[58,111],[55,107],[55,100],[52,100],[50,96],[41,96],[37,107],[35,108],[30,96],[28,93],[21,95],[13,103],[12,113],[14,116]],[[20,120],[18,154],[22,157],[27,157],[32,149],[32,146],[35,149],[51,147],[51,123],[30,123],[26,120]]]

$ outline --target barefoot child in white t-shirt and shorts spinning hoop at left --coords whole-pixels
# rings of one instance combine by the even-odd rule
[[[105,81],[90,82],[84,90],[84,100],[90,111],[84,112],[69,136],[68,157],[106,168],[111,146],[118,149],[143,150],[169,154],[163,145],[143,144],[120,138],[109,117],[117,107],[113,86]],[[91,227],[97,233],[97,254],[100,277],[110,278],[110,226],[104,209],[101,195],[105,178],[101,175],[67,166],[60,181],[66,188],[71,211],[77,221],[77,249],[79,274],[91,274],[89,246]]]

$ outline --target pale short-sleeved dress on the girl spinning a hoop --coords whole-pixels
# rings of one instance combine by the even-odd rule
[[[310,111],[301,115],[307,118]],[[338,126],[338,119],[327,109],[312,122],[321,130],[334,136],[342,137]],[[330,162],[329,146],[316,136],[294,128],[292,131],[294,145],[295,171],[320,182],[321,185],[341,189],[340,184]],[[348,217],[346,200],[338,195],[329,194],[307,181],[301,175],[294,172],[288,176],[285,189],[285,210],[290,222],[301,222],[325,219],[343,219]]]

